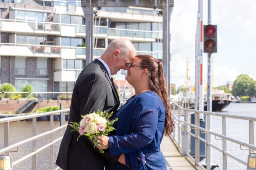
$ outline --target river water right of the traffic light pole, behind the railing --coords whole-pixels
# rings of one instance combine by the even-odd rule
[[[220,113],[256,117],[256,103],[230,103]],[[254,141],[256,141],[256,123],[254,123]],[[228,137],[249,143],[249,121],[226,118],[226,134]],[[212,130],[222,134],[222,118],[212,116]],[[218,139],[218,137],[217,137]],[[212,137],[212,143],[222,149],[222,140]],[[242,149],[248,149],[242,146]],[[240,145],[227,141],[227,152],[247,162],[248,150],[241,150]],[[222,169],[222,153],[212,149],[212,162],[217,163]],[[246,169],[247,166],[227,156],[228,169]]]

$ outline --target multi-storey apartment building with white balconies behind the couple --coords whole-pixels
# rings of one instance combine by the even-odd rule
[[[2,0],[0,18],[0,84],[72,92],[86,57],[81,1]],[[137,54],[162,59],[160,10],[94,8],[93,23],[94,58],[113,39],[127,38]]]

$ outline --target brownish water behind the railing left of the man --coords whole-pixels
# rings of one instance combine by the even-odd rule
[[[68,122],[66,121],[66,123]],[[60,126],[60,122],[54,121],[54,128],[57,128],[59,126]],[[10,145],[32,137],[32,121],[10,122],[9,128],[10,128],[10,134],[9,134]],[[50,131],[50,121],[36,121],[36,134],[41,134],[46,131]],[[55,140],[61,136],[62,136],[62,131],[60,131],[59,133],[54,133],[53,138]],[[50,135],[45,136],[44,140],[40,140],[40,139],[37,140],[36,142],[37,149],[46,145],[49,142],[50,142]],[[60,141],[54,144],[54,161],[57,159],[59,146],[60,146]],[[0,124],[0,149],[2,148],[4,148],[4,124]],[[14,149],[14,151],[16,150],[17,149]],[[31,152],[32,152],[32,142],[29,142],[25,145],[19,146],[18,152],[11,152],[10,154],[12,155],[12,161],[14,162]],[[57,165],[54,165],[54,168],[56,167]],[[14,166],[13,169],[14,170],[32,169],[32,157]],[[40,169],[40,170],[50,169],[50,147],[37,153],[37,169]]]

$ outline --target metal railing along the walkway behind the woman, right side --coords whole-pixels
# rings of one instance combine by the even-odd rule
[[[217,151],[221,152],[223,155],[223,169],[227,170],[227,156],[244,164],[247,165],[249,162],[246,162],[237,156],[231,154],[227,151],[227,141],[235,143],[244,147],[247,147],[248,150],[251,152],[256,150],[256,146],[254,145],[254,122],[256,121],[256,117],[248,117],[248,116],[238,116],[238,115],[231,115],[231,114],[224,114],[224,113],[216,113],[216,112],[209,112],[209,111],[199,111],[194,109],[184,109],[180,107],[177,103],[175,103],[172,99],[170,99],[171,106],[172,106],[172,117],[174,120],[175,129],[172,133],[174,140],[178,143],[179,147],[182,149],[182,155],[188,156],[191,158],[196,165],[200,166],[202,169],[205,169],[204,166],[200,163],[200,141],[206,144],[206,168],[207,170],[210,169],[210,155],[211,150],[210,147],[216,149]],[[176,108],[176,110],[175,110]],[[176,112],[176,114],[175,114]],[[180,119],[181,112],[184,113],[184,121]],[[195,124],[191,123],[190,113],[195,113]],[[202,128],[200,127],[200,116],[199,114],[205,114],[206,119],[210,119],[210,116],[217,116],[222,117],[222,134],[216,133],[211,131],[208,127]],[[247,120],[249,121],[249,143],[236,140],[234,138],[229,138],[226,136],[226,118],[233,118],[233,119],[240,119],[240,120]],[[191,133],[191,129],[195,130],[195,134]],[[178,136],[176,136],[175,132],[178,131]],[[200,137],[200,133],[206,133],[206,140]],[[221,138],[222,140],[222,148],[213,145],[210,142],[210,135],[216,136]],[[190,142],[189,139],[191,137],[195,138],[195,158],[193,158],[189,151],[190,151]],[[244,150],[244,149],[243,149]],[[247,159],[247,158],[246,158]]]

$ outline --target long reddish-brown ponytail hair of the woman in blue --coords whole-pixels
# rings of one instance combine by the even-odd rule
[[[140,59],[140,66],[148,70],[148,81],[150,88],[161,98],[165,107],[164,134],[171,135],[174,129],[174,121],[171,116],[171,106],[166,89],[163,64],[151,55],[137,55]]]

